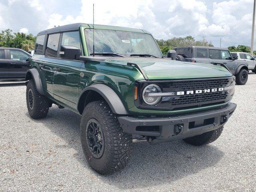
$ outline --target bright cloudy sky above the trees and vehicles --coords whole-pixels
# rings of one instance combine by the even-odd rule
[[[36,35],[92,23],[93,3],[95,24],[141,28],[164,40],[191,35],[216,47],[220,38],[222,47],[250,46],[253,0],[0,0],[0,30]]]

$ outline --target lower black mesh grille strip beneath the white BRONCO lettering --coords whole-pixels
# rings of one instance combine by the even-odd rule
[[[219,100],[226,99],[228,95],[226,92],[212,92],[212,93],[204,93],[204,94],[195,94],[195,95],[185,95],[174,98],[170,103],[172,106],[179,105],[188,105],[188,104],[196,104],[196,103],[204,103],[204,102],[218,102]]]

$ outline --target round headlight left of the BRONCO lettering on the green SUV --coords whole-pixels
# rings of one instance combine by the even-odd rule
[[[156,105],[162,98],[162,96],[150,96],[150,93],[160,93],[162,90],[158,85],[151,84],[144,88],[142,92],[142,98],[148,105]]]

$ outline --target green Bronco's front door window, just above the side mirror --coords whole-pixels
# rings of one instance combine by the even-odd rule
[[[63,33],[61,45],[69,45],[81,49],[78,31]]]

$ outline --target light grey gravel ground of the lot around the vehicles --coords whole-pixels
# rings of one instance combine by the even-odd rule
[[[0,82],[0,191],[256,191],[256,74],[236,86],[236,111],[218,140],[134,144],[128,166],[101,176],[85,160],[80,116],[28,115],[25,84]]]

